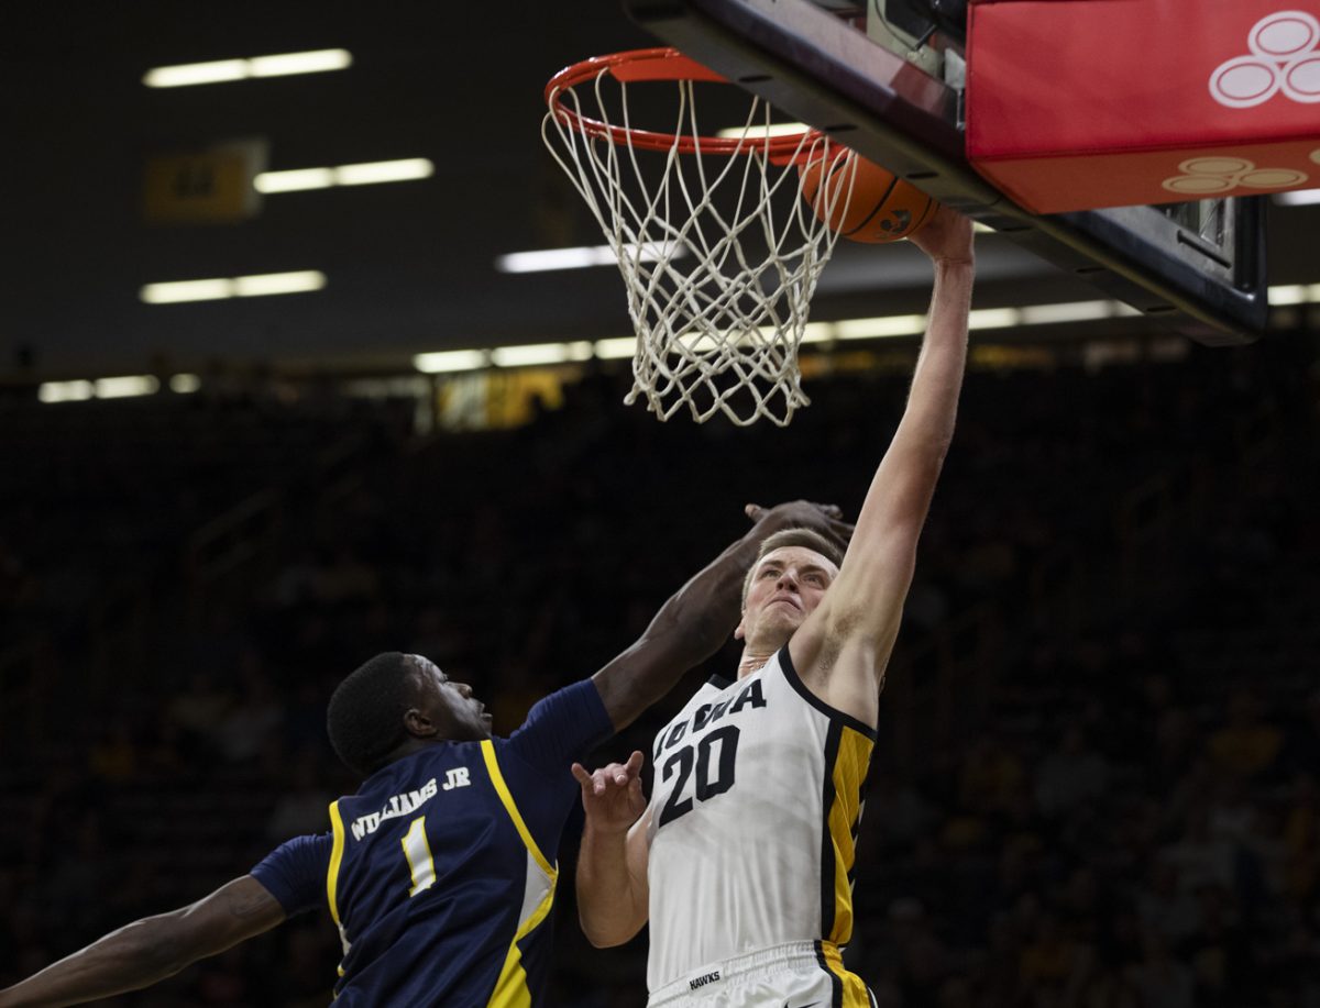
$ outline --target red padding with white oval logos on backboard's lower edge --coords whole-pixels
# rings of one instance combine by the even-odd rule
[[[966,98],[1036,212],[1320,187],[1320,0],[973,0]]]

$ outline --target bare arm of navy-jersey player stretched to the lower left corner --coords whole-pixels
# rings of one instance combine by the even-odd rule
[[[0,991],[0,1008],[58,1008],[149,987],[282,921],[279,901],[244,875],[190,906],[125,925]]]

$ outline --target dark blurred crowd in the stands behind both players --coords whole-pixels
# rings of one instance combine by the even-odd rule
[[[428,437],[326,396],[4,404],[0,983],[327,829],[356,782],[325,702],[376,652],[432,657],[507,734],[743,503],[855,513],[906,384],[817,379],[787,430],[660,425],[612,373]],[[846,958],[882,1008],[1320,1005],[1317,389],[1302,336],[969,375],[859,840]],[[558,1000],[642,1005],[644,937],[586,945],[574,855]],[[325,1004],[338,951],[310,914],[115,1003]]]

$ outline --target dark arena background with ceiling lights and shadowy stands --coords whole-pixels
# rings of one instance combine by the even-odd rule
[[[615,7],[0,25],[0,986],[327,829],[356,782],[325,703],[376,652],[507,734],[744,503],[855,515],[915,249],[841,243],[812,318],[874,332],[808,347],[783,430],[624,406],[616,270],[502,259],[601,244],[539,129],[561,66],[653,44]],[[321,50],[350,62],[252,59]],[[243,79],[144,83],[222,59]],[[1269,212],[1270,330],[1234,348],[978,236],[859,842],[882,1008],[1320,1005],[1320,207]],[[211,286],[152,286],[180,281]],[[642,1005],[644,935],[578,929],[578,831],[557,1001]],[[318,912],[112,1003],[327,1004],[338,955]]]

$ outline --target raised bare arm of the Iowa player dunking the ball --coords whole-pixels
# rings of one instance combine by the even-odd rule
[[[907,408],[884,453],[843,565],[789,644],[793,664],[826,703],[875,724],[916,567],[916,544],[953,438],[968,354],[972,222],[948,208],[912,239],[935,264],[935,292]]]

